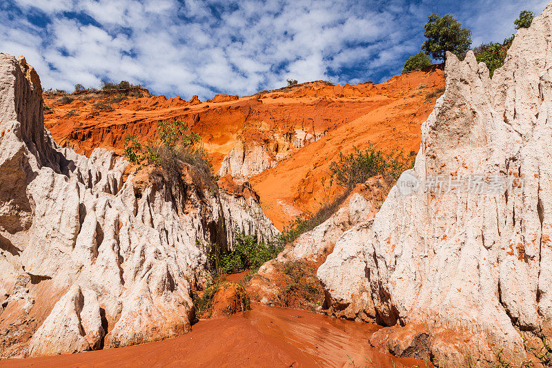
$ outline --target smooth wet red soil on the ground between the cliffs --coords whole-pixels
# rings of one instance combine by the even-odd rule
[[[80,354],[3,360],[0,367],[426,367],[368,344],[377,325],[254,304],[179,338]],[[350,358],[349,358],[350,357]],[[354,361],[354,365],[351,362]]]

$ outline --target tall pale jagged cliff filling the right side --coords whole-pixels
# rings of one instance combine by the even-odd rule
[[[517,32],[492,80],[473,52],[447,55],[446,91],[410,172],[422,190],[395,186],[373,225],[344,233],[319,268],[333,308],[406,325],[373,345],[398,355],[423,345],[456,365],[504,349],[519,365],[523,337],[552,338],[551,41],[552,3]],[[510,176],[513,186],[424,193],[438,175]]]

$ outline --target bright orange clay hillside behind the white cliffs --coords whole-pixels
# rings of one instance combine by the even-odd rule
[[[372,143],[383,151],[416,153],[420,125],[443,87],[442,70],[431,67],[382,84],[314,81],[206,102],[151,96],[147,90],[139,92],[143,97],[45,94],[45,123],[61,146],[90,155],[96,147],[122,154],[127,134],[146,142],[157,134],[159,120],[184,120],[201,135],[215,173],[226,165],[221,175],[248,178],[265,213],[282,229],[326,199],[321,178],[328,177],[339,150],[350,153],[353,146]],[[236,163],[241,171],[234,170]]]

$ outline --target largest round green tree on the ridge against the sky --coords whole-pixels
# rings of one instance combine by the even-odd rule
[[[471,46],[471,30],[462,28],[452,14],[443,17],[431,14],[424,29],[427,41],[422,44],[422,50],[433,59],[444,61],[447,51],[460,57]]]

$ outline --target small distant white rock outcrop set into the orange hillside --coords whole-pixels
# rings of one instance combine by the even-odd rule
[[[276,166],[275,159],[270,157],[263,146],[256,142],[244,146],[242,141],[237,141],[232,151],[224,157],[219,175],[252,177],[274,166]]]

